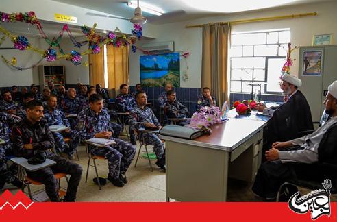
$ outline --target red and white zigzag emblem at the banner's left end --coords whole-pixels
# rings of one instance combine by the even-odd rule
[[[29,199],[21,190],[13,195],[10,190],[5,190],[0,196],[0,210],[5,210],[7,206],[8,209],[15,210],[18,206],[23,206],[26,210],[32,206],[33,201]],[[10,208],[9,208],[10,207]]]

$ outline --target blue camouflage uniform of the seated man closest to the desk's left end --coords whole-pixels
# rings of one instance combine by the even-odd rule
[[[129,125],[132,129],[145,128],[145,123],[153,123],[157,127],[160,127],[157,117],[153,114],[153,111],[146,107],[144,109],[137,106],[129,115]],[[140,139],[144,140],[146,144],[153,145],[153,151],[157,159],[161,159],[164,155],[164,143],[158,138],[157,134],[144,133],[140,135]]]

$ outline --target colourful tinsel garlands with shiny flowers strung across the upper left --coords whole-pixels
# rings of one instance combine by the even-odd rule
[[[4,36],[2,36],[0,39],[0,45],[5,41],[6,38],[10,38],[16,49],[32,50],[35,53],[39,53],[41,55],[42,57],[41,60],[45,58],[48,62],[53,62],[55,60],[60,60],[60,59],[66,59],[66,60],[71,60],[71,62],[75,65],[82,64],[81,63],[82,56],[88,55],[90,53],[94,53],[94,54],[99,53],[103,45],[113,45],[114,47],[127,47],[128,45],[133,45],[132,51],[136,52],[137,47],[136,45],[134,45],[134,43],[136,42],[137,39],[140,39],[142,37],[142,27],[140,24],[134,25],[134,29],[132,30],[133,36],[130,36],[130,37],[123,35],[118,28],[116,28],[114,32],[109,32],[106,36],[101,36],[95,32],[95,28],[97,26],[97,24],[95,24],[93,25],[92,29],[90,29],[86,25],[81,27],[82,33],[86,36],[87,40],[82,41],[82,42],[77,42],[77,40],[75,40],[75,38],[71,34],[71,30],[69,29],[68,25],[64,25],[62,27],[62,31],[60,32],[58,38],[53,38],[52,40],[50,40],[49,38],[47,38],[47,35],[43,31],[42,25],[40,21],[38,21],[38,19],[36,18],[36,15],[34,12],[25,12],[25,13],[18,12],[18,13],[12,13],[12,14],[0,12],[0,21],[1,22],[21,21],[21,22],[29,23],[31,25],[36,25],[36,28],[40,32],[40,35],[48,43],[49,45],[48,49],[38,49],[37,47],[30,45],[28,39],[25,36],[16,36],[15,34],[12,34],[12,32],[9,32],[7,29],[1,27],[1,25],[0,25],[0,32]],[[68,36],[73,42],[75,47],[82,47],[86,43],[89,43],[88,49],[86,51],[82,51],[81,53],[77,51],[71,51],[71,53],[65,53],[64,50],[60,46],[60,42],[62,41],[64,31],[68,33]],[[55,51],[55,49],[53,48],[57,48],[58,52]],[[36,66],[35,64],[30,67],[21,68],[18,66],[14,66],[14,64],[11,64],[3,56],[2,58],[3,58],[3,62],[7,61],[5,62],[6,64],[16,69],[19,69],[19,70],[32,69],[32,67]],[[83,64],[87,65],[85,62]]]

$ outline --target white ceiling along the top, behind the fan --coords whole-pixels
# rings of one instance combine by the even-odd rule
[[[133,8],[127,6],[128,0],[53,0],[70,5],[97,10],[107,14],[131,18]],[[317,3],[337,0],[140,0],[162,8],[166,13],[162,16],[153,16],[143,12],[149,23],[163,24],[177,21],[186,21],[193,18],[207,16],[219,16],[235,12],[247,12],[251,10],[266,10],[270,8],[284,7],[286,5],[298,5],[303,3]],[[214,12],[215,11],[215,12]]]

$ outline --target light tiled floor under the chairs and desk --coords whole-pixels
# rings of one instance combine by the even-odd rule
[[[138,145],[137,145],[138,147]],[[80,161],[75,160],[83,167],[83,175],[77,193],[77,201],[126,201],[126,202],[163,202],[165,201],[165,173],[155,166],[153,163],[153,172],[150,171],[149,162],[147,159],[140,158],[137,167],[134,167],[134,162],[127,171],[127,179],[129,182],[123,188],[118,188],[108,183],[99,190],[99,187],[94,184],[92,179],[95,177],[95,169],[90,167],[88,182],[85,182],[86,167],[88,156],[85,147],[78,147]],[[137,149],[138,151],[138,149]],[[100,177],[107,177],[108,167],[106,160],[97,160],[97,168]],[[66,182],[62,180],[62,186],[66,187]],[[251,192],[252,183],[242,182],[238,180],[228,181],[228,201],[262,201],[259,197],[255,197]],[[6,186],[5,188],[10,188]],[[32,190],[40,189],[42,186],[32,186]],[[17,190],[17,189],[16,189]],[[16,190],[11,190],[16,193]],[[27,190],[27,188],[25,189]],[[2,192],[0,192],[2,193]],[[305,193],[308,193],[305,192]],[[336,201],[336,198],[332,198]]]

